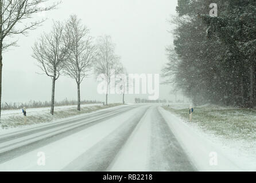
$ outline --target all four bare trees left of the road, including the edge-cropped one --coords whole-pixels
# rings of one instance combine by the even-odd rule
[[[13,40],[15,35],[28,35],[30,30],[36,29],[46,21],[46,18],[35,19],[35,14],[56,9],[60,3],[56,1],[50,4],[48,0],[0,0],[0,119],[3,51],[17,45],[17,41]],[[55,22],[51,33],[44,33],[33,46],[33,57],[40,63],[44,73],[52,78],[52,114],[55,82],[61,73],[74,78],[77,83],[79,110],[80,84],[91,70],[92,61],[95,63],[96,74],[103,71],[106,78],[109,78],[109,70],[115,67],[113,62],[118,60],[118,57],[115,56],[114,59],[114,44],[110,37],[100,37],[99,43],[102,45],[95,46],[87,27],[83,26],[76,16],[72,16],[65,24]],[[103,50],[104,46],[105,50]],[[100,47],[102,50],[97,51]]]

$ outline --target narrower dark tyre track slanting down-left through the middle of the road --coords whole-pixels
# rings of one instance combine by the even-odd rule
[[[119,126],[117,132],[112,132],[104,140],[98,142],[98,144],[82,154],[75,161],[72,161],[62,171],[106,171],[123,145],[125,145],[148,108],[149,106],[140,109],[141,111],[139,111],[137,115],[126,120],[125,125]]]

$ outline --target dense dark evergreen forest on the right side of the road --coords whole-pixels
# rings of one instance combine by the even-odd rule
[[[174,47],[166,49],[166,83],[195,104],[256,105],[256,1],[178,0]]]

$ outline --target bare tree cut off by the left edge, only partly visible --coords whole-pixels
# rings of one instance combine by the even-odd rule
[[[2,53],[10,46],[15,46],[17,41],[5,42],[7,37],[16,34],[26,35],[29,30],[36,29],[45,19],[33,21],[32,15],[42,11],[55,9],[60,3],[43,7],[42,4],[48,0],[0,0],[0,117],[1,117],[1,98],[2,98]],[[23,23],[27,22],[29,23]]]

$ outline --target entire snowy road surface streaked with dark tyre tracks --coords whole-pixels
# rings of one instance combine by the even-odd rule
[[[0,171],[198,170],[161,110],[157,105],[118,106],[11,133],[3,130]]]

